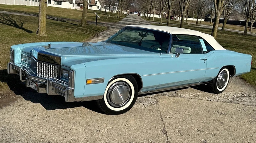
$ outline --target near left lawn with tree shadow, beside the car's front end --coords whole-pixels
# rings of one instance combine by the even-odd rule
[[[38,8],[38,7],[37,7]],[[30,16],[17,16],[0,13],[0,93],[9,91],[9,87],[24,88],[17,75],[7,74],[7,63],[10,59],[12,45],[43,41],[86,41],[106,27],[87,25],[78,26],[79,23],[60,22],[47,19],[47,36],[36,36],[38,18]],[[11,82],[10,82],[11,81]]]

